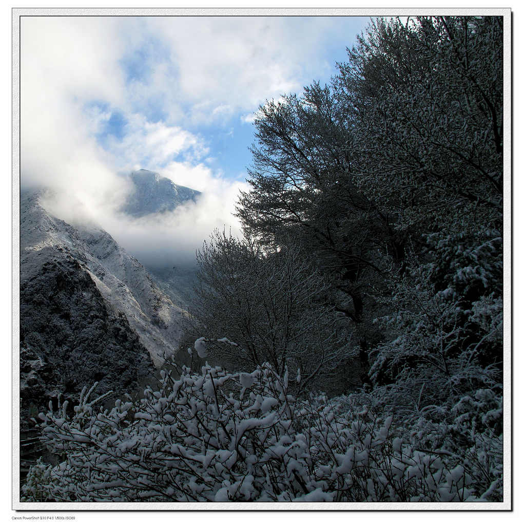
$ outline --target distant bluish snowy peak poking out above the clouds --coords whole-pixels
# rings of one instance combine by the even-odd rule
[[[167,177],[149,170],[133,171],[129,178],[135,192],[122,211],[134,217],[171,211],[186,201],[196,200],[200,195],[197,190],[177,185]]]

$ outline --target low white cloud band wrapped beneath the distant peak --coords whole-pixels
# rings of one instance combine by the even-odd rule
[[[60,190],[46,206],[73,225],[96,224],[146,266],[165,268],[190,265],[197,249],[215,228],[241,236],[240,222],[233,216],[240,190],[248,185],[230,180],[206,166],[171,163],[161,175],[175,183],[202,191],[197,203],[189,201],[171,212],[134,218],[109,207],[94,210],[76,195]],[[120,180],[124,180],[121,178]]]

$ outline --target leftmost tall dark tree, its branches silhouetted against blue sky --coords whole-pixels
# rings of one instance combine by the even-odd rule
[[[333,307],[361,321],[368,282],[387,255],[402,260],[405,238],[356,187],[350,114],[332,87],[314,83],[260,107],[255,126],[244,228],[268,245],[299,239],[336,291]]]

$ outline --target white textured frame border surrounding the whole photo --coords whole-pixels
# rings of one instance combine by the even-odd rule
[[[480,503],[29,503],[20,501],[19,478],[19,236],[20,236],[20,17],[22,16],[424,16],[504,18],[504,500]],[[13,8],[12,10],[12,388],[13,493],[16,511],[511,511],[512,510],[512,13],[510,8]]]

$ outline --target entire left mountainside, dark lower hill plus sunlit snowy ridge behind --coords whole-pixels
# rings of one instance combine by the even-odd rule
[[[20,199],[22,411],[57,392],[126,392],[178,348],[183,309],[108,232]],[[30,411],[29,411],[30,412]]]

